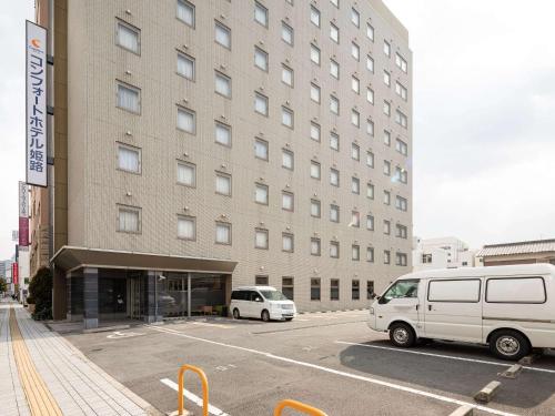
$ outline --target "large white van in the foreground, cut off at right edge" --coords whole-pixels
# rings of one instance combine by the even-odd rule
[[[555,266],[430,270],[398,277],[376,297],[369,326],[401,347],[420,338],[490,345],[503,359],[555,348]]]

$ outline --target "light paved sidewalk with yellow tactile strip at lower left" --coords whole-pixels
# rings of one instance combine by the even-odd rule
[[[21,305],[7,302],[0,303],[0,400],[3,416],[159,414]]]

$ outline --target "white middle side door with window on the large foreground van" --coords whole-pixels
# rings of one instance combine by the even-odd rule
[[[482,280],[431,278],[424,327],[427,338],[482,342]]]

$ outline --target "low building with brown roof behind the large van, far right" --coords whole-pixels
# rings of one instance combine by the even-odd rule
[[[484,245],[476,253],[484,266],[506,264],[555,264],[555,239]]]

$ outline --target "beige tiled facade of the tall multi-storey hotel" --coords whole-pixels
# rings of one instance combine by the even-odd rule
[[[194,10],[190,24],[176,16],[183,6]],[[341,0],[339,6],[329,0],[72,0],[62,14],[68,33],[67,90],[60,88],[70,103],[67,172],[61,144],[57,153],[61,149],[62,168],[56,166],[60,192],[64,177],[68,183],[67,245],[236,262],[233,287],[268,276],[270,285],[281,288],[283,277],[293,277],[300,311],[367,306],[370,284],[380,291],[410,272],[407,31],[379,0]],[[331,37],[332,24],[339,29],[339,42]],[[135,51],[118,44],[122,26],[135,33]],[[215,41],[216,26],[229,30],[229,47]],[[283,28],[293,32],[291,44],[282,39]],[[353,57],[356,47],[359,59]],[[311,60],[315,48],[320,63]],[[255,65],[255,53],[265,69]],[[190,79],[178,73],[178,54],[194,61]],[[331,74],[331,60],[339,63],[339,79]],[[292,85],[283,82],[283,68],[293,71]],[[224,82],[220,93],[216,77]],[[119,85],[139,93],[137,111],[121,108]],[[316,90],[311,85],[320,90],[320,102],[314,101]],[[266,115],[255,112],[255,97],[268,99]],[[332,97],[339,101],[339,114],[331,111]],[[384,114],[385,105],[390,115]],[[189,132],[178,129],[180,110],[194,116],[192,129],[185,125]],[[283,123],[284,111],[291,126]],[[229,128],[231,145],[216,143],[216,125]],[[337,150],[330,144],[331,135],[339,136]],[[256,140],[268,146],[268,159],[261,158],[261,146],[255,155]],[[139,164],[122,169],[120,146],[139,154]],[[353,158],[356,149],[359,160]],[[293,169],[282,166],[283,151],[294,155]],[[194,166],[194,184],[179,183],[178,163]],[[311,177],[312,164],[320,166],[320,179]],[[390,174],[384,173],[386,164]],[[330,183],[331,170],[339,172],[339,186]],[[231,177],[230,195],[216,193],[219,174]],[[356,182],[359,193],[353,192]],[[367,196],[369,184],[373,197]],[[255,201],[256,185],[268,191],[268,203],[264,191],[259,193],[260,203]],[[293,210],[282,207],[283,192],[294,195]],[[389,204],[384,192],[390,193]],[[64,196],[60,196],[62,216]],[[312,200],[320,202],[320,217],[311,215],[316,213]],[[340,207],[339,222],[330,221],[332,204]],[[120,231],[121,212],[129,210],[139,215],[137,232]],[[353,224],[353,212],[360,215],[360,226]],[[373,231],[366,227],[367,216],[373,217]],[[194,220],[192,240],[178,236],[179,219]],[[59,233],[56,221],[54,234],[63,235],[63,221]],[[218,223],[230,224],[230,244],[215,242]],[[268,232],[268,248],[255,247],[256,230]],[[291,251],[283,250],[284,234],[293,236]],[[261,235],[259,243],[264,241]],[[320,255],[311,254],[312,239],[320,240]],[[335,243],[339,257],[330,255]],[[353,260],[356,246],[360,260]],[[372,262],[366,257],[369,247],[374,251]],[[331,300],[332,280],[340,282],[339,300]],[[353,281],[359,282],[357,300]],[[316,293],[311,282],[320,282],[320,300],[311,300]]]

